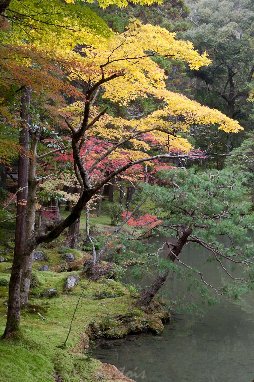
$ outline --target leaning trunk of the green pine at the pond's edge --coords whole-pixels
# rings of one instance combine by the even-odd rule
[[[182,252],[182,248],[184,244],[186,243],[189,235],[192,233],[192,228],[187,228],[187,225],[182,225],[181,230],[179,230],[179,239],[176,244],[173,245],[173,249],[169,252],[167,259],[171,261],[175,261],[176,256]],[[169,244],[168,247],[170,248]],[[174,256],[176,255],[176,256]],[[168,277],[168,269],[165,270],[163,274],[159,274],[156,278],[156,280],[152,283],[149,289],[142,293],[139,300],[136,302],[136,306],[148,306],[150,302],[152,301],[153,297],[156,295],[158,290],[161,288],[161,286],[165,283],[167,277]]]

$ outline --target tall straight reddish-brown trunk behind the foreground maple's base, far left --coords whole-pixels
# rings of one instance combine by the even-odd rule
[[[25,243],[26,238],[26,206],[24,202],[27,199],[27,176],[28,176],[28,158],[23,154],[28,154],[28,141],[29,133],[27,130],[26,122],[29,122],[29,108],[30,108],[30,87],[24,89],[21,98],[21,111],[20,117],[22,118],[21,128],[19,133],[19,144],[22,147],[22,152],[19,153],[18,159],[18,188],[23,188],[17,194],[17,210],[16,214],[21,215],[16,218],[15,230],[15,247],[14,247],[14,260],[16,259],[20,249]],[[25,199],[25,200],[24,200]],[[20,202],[19,202],[20,201]]]

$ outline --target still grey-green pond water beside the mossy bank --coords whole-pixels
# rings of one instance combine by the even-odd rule
[[[163,237],[157,237],[158,245]],[[161,253],[166,257],[167,251]],[[203,272],[206,282],[219,285],[227,277],[217,262],[205,263],[208,252],[185,246],[181,260]],[[226,262],[224,265],[229,265]],[[230,265],[228,269],[231,269]],[[131,270],[124,282],[131,280]],[[143,280],[142,286],[151,280]],[[182,288],[176,279],[165,289]],[[172,299],[172,296],[171,298]],[[227,298],[204,306],[205,315],[173,315],[163,335],[129,335],[97,342],[95,358],[114,364],[136,382],[251,382],[254,379],[254,291],[241,303]]]

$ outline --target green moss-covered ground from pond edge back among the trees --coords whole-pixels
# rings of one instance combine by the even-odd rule
[[[115,196],[119,198],[119,194]],[[68,212],[61,208],[61,216]],[[94,212],[96,215],[96,212]],[[101,217],[90,217],[99,229],[112,230],[110,226],[110,203],[102,202]],[[85,213],[81,214],[80,229],[85,228]],[[8,309],[8,285],[14,247],[13,224],[0,229],[0,252],[7,262],[0,262],[0,335],[4,332]],[[169,314],[160,303],[148,311],[134,306],[137,293],[125,289],[120,282],[89,282],[82,271],[90,254],[65,249],[63,244],[38,248],[48,258],[34,261],[33,274],[37,285],[30,289],[29,306],[22,306],[20,326],[22,337],[0,341],[0,381],[15,382],[94,382],[130,381],[119,371],[103,366],[100,361],[87,357],[89,340],[98,337],[120,338],[130,332],[150,329],[155,333],[163,330],[162,321]],[[66,263],[64,253],[72,253],[74,262]],[[39,265],[48,265],[49,271],[40,272]],[[80,280],[71,290],[64,290],[66,277],[78,274]],[[35,278],[36,278],[35,277]],[[1,279],[2,283],[1,283]],[[6,281],[5,281],[6,280]],[[2,286],[1,286],[2,285]],[[40,297],[43,290],[55,289],[53,297]],[[83,291],[83,295],[80,295]],[[106,296],[97,299],[98,295]],[[80,302],[72,322],[66,346],[63,344],[69,333],[73,312]],[[113,366],[112,366],[113,367]],[[117,376],[117,377],[116,377]]]

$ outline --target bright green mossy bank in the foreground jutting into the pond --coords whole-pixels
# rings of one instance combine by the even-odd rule
[[[9,380],[78,382],[81,378],[93,381],[97,380],[99,373],[104,382],[112,382],[115,377],[110,377],[108,374],[104,376],[100,361],[86,358],[84,351],[89,338],[94,338],[95,335],[119,338],[145,329],[151,329],[159,334],[163,328],[162,320],[169,317],[168,312],[164,312],[163,306],[159,303],[149,311],[135,308],[138,295],[126,293],[119,282],[105,280],[93,282],[87,280],[83,272],[75,271],[80,276],[80,281],[66,292],[64,291],[66,273],[38,270],[34,272],[39,285],[30,289],[31,304],[21,309],[20,322],[24,337],[19,340],[0,341],[0,371],[13,378]],[[71,274],[72,272],[69,272],[69,275]],[[7,281],[10,279],[9,274],[2,273],[1,276]],[[58,298],[38,298],[42,290],[50,288],[58,291]],[[119,297],[94,299],[96,292],[99,293],[105,288],[109,293],[115,293]],[[6,305],[3,305],[3,302],[7,298],[8,286],[0,287],[0,335],[6,324]],[[65,348],[62,349],[79,298],[72,330]],[[124,377],[123,380],[126,381]],[[120,382],[121,378],[119,377],[117,381]]]

